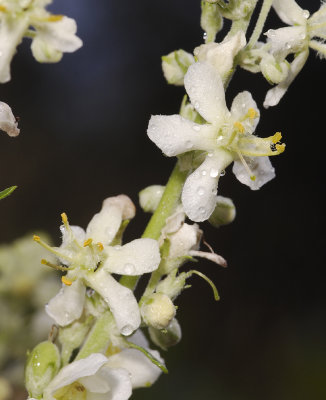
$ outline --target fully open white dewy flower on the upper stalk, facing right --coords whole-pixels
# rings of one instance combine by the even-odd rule
[[[185,76],[185,88],[192,105],[208,123],[196,124],[180,115],[157,115],[152,116],[147,133],[170,157],[191,150],[205,152],[204,161],[188,176],[182,191],[185,213],[200,222],[212,214],[219,177],[232,161],[237,164],[234,173],[239,180],[257,189],[274,177],[270,162],[261,162],[260,158],[282,153],[285,145],[278,144],[279,132],[265,139],[254,136],[259,111],[249,92],[239,93],[231,111],[227,109],[221,77],[209,64],[192,65]],[[249,157],[250,162],[258,157],[256,175],[244,157]],[[244,171],[247,180],[243,179]]]

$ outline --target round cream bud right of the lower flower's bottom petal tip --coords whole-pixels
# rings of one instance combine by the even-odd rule
[[[164,329],[175,316],[175,307],[167,295],[154,293],[144,301],[140,312],[146,325]]]

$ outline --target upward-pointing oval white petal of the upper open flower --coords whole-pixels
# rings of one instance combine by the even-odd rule
[[[206,121],[221,124],[228,112],[221,77],[207,64],[191,65],[184,78],[192,105]]]

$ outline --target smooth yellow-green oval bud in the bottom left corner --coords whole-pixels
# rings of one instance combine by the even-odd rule
[[[38,344],[30,353],[26,368],[26,389],[31,397],[41,398],[44,389],[57,374],[60,353],[55,344],[46,341]]]

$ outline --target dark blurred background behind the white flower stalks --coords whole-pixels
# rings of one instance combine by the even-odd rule
[[[84,47],[41,65],[24,40],[12,81],[0,87],[21,119],[18,138],[0,135],[0,188],[19,186],[0,204],[1,242],[44,229],[59,244],[61,212],[85,227],[105,197],[126,193],[137,202],[139,190],[164,184],[175,160],[148,140],[147,123],[151,114],[177,113],[184,90],[166,84],[160,57],[202,43],[199,0],[56,0],[51,9],[77,20]],[[279,23],[274,13],[270,21],[266,30]],[[311,51],[280,105],[268,110],[266,81],[235,75],[228,104],[250,90],[262,114],[258,135],[281,130],[287,148],[272,160],[277,178],[258,192],[231,170],[221,179],[237,218],[218,230],[203,227],[229,268],[196,265],[221,300],[192,279],[177,300],[183,340],[165,355],[170,374],[135,399],[326,398],[325,71]],[[147,218],[138,211],[127,239],[141,234]]]

